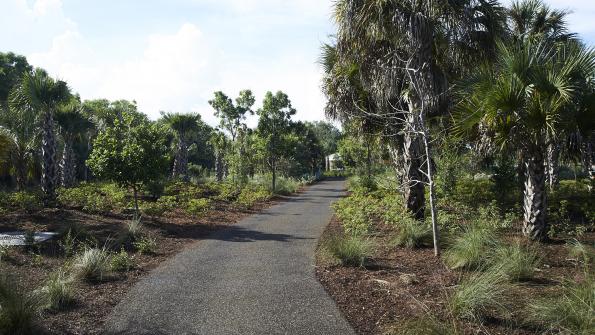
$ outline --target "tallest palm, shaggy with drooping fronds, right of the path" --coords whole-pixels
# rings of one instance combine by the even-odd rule
[[[492,0],[340,0],[335,17],[336,46],[323,49],[323,60],[334,64],[325,66],[323,85],[331,114],[362,112],[385,120],[396,142],[391,151],[402,155],[394,161],[402,164],[405,203],[423,218],[420,170],[428,159],[420,119],[444,113],[449,80],[493,54],[503,9]],[[362,100],[375,108],[353,107]]]

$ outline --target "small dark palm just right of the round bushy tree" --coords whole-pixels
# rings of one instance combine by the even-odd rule
[[[188,179],[188,137],[199,129],[199,114],[162,113],[163,120],[174,131],[177,140],[173,178]]]

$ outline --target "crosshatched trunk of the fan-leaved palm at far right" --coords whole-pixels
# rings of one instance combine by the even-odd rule
[[[537,148],[526,157],[523,234],[532,240],[543,240],[547,234],[543,153]]]

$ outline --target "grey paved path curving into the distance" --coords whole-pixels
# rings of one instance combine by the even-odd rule
[[[343,183],[326,181],[178,254],[114,309],[107,334],[355,334],[314,274]]]

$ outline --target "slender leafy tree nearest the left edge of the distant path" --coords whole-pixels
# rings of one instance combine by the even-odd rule
[[[265,161],[272,174],[272,190],[276,189],[277,165],[281,157],[287,154],[286,135],[290,129],[291,116],[296,110],[291,106],[287,94],[279,91],[276,94],[267,92],[262,108],[256,112],[258,119],[258,136],[262,140]]]

